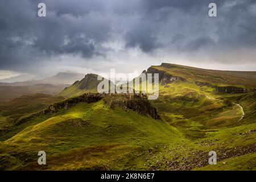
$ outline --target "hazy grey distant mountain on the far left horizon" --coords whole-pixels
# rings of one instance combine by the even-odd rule
[[[72,84],[76,80],[81,80],[84,77],[81,73],[73,72],[60,72],[55,76],[47,77],[42,80],[30,80],[30,81],[20,81],[20,82],[1,82],[0,86],[24,86],[24,85],[35,85],[35,84],[52,84],[52,85],[61,85],[61,84]]]

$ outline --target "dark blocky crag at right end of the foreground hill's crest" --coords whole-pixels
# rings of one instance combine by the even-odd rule
[[[158,111],[155,107],[151,106],[150,102],[147,100],[146,94],[114,94],[110,97],[105,97],[105,103],[109,104],[110,108],[118,106],[125,111],[131,109],[139,114],[149,115],[154,119],[160,119]]]

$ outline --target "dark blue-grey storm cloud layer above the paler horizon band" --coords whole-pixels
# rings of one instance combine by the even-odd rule
[[[39,18],[37,5],[47,5]],[[217,17],[208,16],[210,2]],[[64,54],[105,56],[103,44],[116,39],[125,48],[151,54],[255,50],[255,1],[0,1],[0,69],[29,71]]]

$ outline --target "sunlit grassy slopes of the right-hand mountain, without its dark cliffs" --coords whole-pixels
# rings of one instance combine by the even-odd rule
[[[218,86],[238,85],[255,89],[256,72],[212,71],[174,64],[168,64],[164,67],[155,66],[154,68],[187,79],[186,82],[175,81],[171,84],[159,85],[159,99],[151,101],[152,105],[158,108],[164,121],[176,127],[177,130],[184,134],[185,138],[191,140],[191,144],[186,145],[180,152],[177,151],[178,154],[184,152],[184,150],[194,151],[196,149],[195,153],[199,150],[204,151],[207,155],[207,151],[209,152],[213,149],[218,151],[221,148],[255,144],[256,93],[220,94],[216,93],[214,88],[210,86],[196,85],[195,81],[209,82]],[[241,109],[232,103],[242,105],[246,113],[245,118],[240,122],[238,120],[242,115]],[[204,145],[205,143],[206,146]],[[223,153],[223,151],[220,151],[219,155]],[[232,159],[230,160],[232,161],[243,158],[243,156],[237,156],[233,159],[232,155],[226,157],[231,157]],[[245,158],[246,156],[247,154]],[[182,159],[183,157],[177,160]],[[166,159],[163,161],[166,161]],[[239,164],[249,166],[246,169],[255,168],[253,167],[255,166],[255,161],[249,164],[246,164],[246,161],[243,160]],[[193,165],[187,169],[192,168]],[[210,166],[210,169],[218,168],[219,166]],[[234,169],[234,165],[227,163],[224,168]],[[175,168],[166,167],[162,169]],[[200,168],[197,167],[197,169]]]

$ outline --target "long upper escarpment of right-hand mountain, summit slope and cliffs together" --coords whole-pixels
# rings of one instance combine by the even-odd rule
[[[162,63],[159,66],[151,66],[147,69],[147,71],[143,71],[142,73],[158,73],[159,82],[162,85],[172,84],[175,81],[195,82],[197,86],[214,88],[217,93],[247,93],[252,92],[254,89],[244,86],[244,82],[240,82],[240,84],[236,85],[234,85],[234,82],[230,82],[230,80],[245,79],[244,76],[247,76],[246,72],[214,71],[210,69],[200,69],[176,64]],[[230,73],[234,74],[232,78],[226,76],[226,74]],[[252,72],[252,75],[253,74],[254,72]]]

